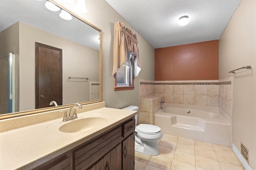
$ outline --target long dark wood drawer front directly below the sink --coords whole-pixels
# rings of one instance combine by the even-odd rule
[[[99,160],[104,154],[115,147],[121,141],[121,127],[99,137],[92,143],[74,152],[76,169],[87,169],[95,160]]]

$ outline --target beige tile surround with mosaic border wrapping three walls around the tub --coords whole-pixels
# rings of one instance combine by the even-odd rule
[[[152,81],[140,79],[139,99],[163,95],[165,103],[219,107],[220,113],[232,125],[232,86],[232,77],[221,80],[186,81]],[[140,102],[139,108],[144,107],[141,104],[144,104],[144,102]],[[152,113],[154,113],[154,108],[152,108]],[[146,113],[144,112],[143,114]]]

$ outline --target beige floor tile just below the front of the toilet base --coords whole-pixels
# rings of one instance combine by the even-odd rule
[[[163,170],[170,170],[172,160],[164,156],[158,155],[158,156],[152,156],[148,164]]]

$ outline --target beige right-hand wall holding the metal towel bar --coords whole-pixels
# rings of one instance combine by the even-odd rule
[[[233,76],[233,143],[256,169],[256,1],[242,0],[219,41],[219,78]],[[253,65],[252,70],[228,71]]]

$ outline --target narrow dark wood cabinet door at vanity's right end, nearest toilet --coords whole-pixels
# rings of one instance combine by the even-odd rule
[[[123,170],[134,170],[134,133],[123,141]]]

